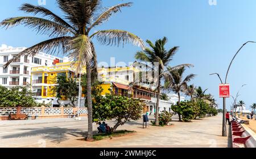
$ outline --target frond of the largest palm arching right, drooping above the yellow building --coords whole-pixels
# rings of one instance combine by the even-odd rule
[[[94,33],[90,38],[96,37],[98,41],[102,45],[117,45],[119,46],[121,43],[133,44],[141,47],[142,49],[145,48],[143,40],[138,36],[123,30],[104,30],[104,31],[97,31]]]

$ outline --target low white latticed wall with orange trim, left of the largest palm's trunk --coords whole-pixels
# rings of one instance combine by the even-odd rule
[[[48,107],[30,107],[20,108],[21,114],[38,115],[38,118],[67,118],[69,114],[75,114],[78,108],[48,108]],[[0,120],[8,120],[9,114],[16,114],[17,108],[0,108]],[[80,116],[88,114],[87,108],[80,108]]]

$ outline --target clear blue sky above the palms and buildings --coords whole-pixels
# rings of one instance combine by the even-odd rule
[[[100,28],[121,29],[133,32],[143,40],[155,41],[167,36],[167,48],[180,46],[180,50],[171,62],[171,66],[189,63],[195,68],[188,69],[188,73],[197,74],[194,83],[209,89],[207,93],[214,95],[222,107],[222,99],[218,98],[218,84],[220,81],[210,73],[224,74],[228,69],[234,53],[243,43],[256,41],[256,1],[255,0],[217,0],[216,6],[210,6],[208,0],[103,0],[104,6],[118,3],[134,2],[133,7],[123,9]],[[11,16],[22,16],[18,11],[22,3],[38,4],[38,0],[9,0],[0,5],[0,20]],[[53,0],[46,0],[46,7],[57,14],[60,10]],[[0,44],[13,47],[30,47],[46,36],[36,35],[29,28],[15,27],[10,30],[0,28]],[[97,41],[95,41],[97,43]],[[132,62],[134,55],[140,48],[132,45],[125,47],[110,47],[96,45],[98,61]],[[231,94],[240,91],[238,100],[243,100],[246,107],[256,103],[255,79],[256,44],[248,44],[237,56],[228,76]],[[228,109],[232,99],[227,99]]]

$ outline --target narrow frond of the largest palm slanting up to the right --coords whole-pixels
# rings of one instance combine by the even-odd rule
[[[106,22],[114,13],[117,13],[118,11],[121,11],[122,7],[130,7],[131,4],[132,4],[131,2],[130,3],[123,3],[123,4],[120,4],[120,5],[110,7],[106,11],[102,12],[102,14],[100,14],[98,16],[98,18],[95,20],[95,22],[93,22],[92,26],[89,27],[87,32],[89,33],[89,31],[93,27],[98,26],[98,25]]]

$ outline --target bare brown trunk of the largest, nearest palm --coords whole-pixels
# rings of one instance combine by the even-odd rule
[[[93,140],[93,122],[92,122],[92,79],[90,77],[90,64],[86,64],[86,85],[87,85],[87,106],[88,106],[88,136],[87,141]]]

